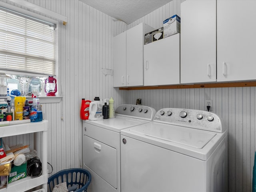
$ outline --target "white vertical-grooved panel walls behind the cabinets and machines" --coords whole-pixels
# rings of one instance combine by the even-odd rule
[[[18,6],[8,0],[0,1]],[[81,98],[93,100],[95,96],[103,99],[113,96],[115,107],[135,104],[136,98],[142,98],[143,105],[156,110],[166,107],[204,110],[204,100],[212,99],[213,112],[223,118],[229,131],[229,191],[252,191],[256,88],[126,91],[113,88],[113,77],[102,73],[102,68],[113,69],[114,36],[140,22],[154,28],[162,27],[166,18],[174,14],[180,16],[180,4],[184,0],[173,0],[129,25],[78,0],[28,1],[68,17],[66,26],[59,25],[58,38],[58,90],[63,99],[60,103],[43,104],[45,118],[49,121],[48,162],[54,168],[52,174],[82,167]],[[32,138],[31,135],[16,136],[7,142],[9,145],[27,144]]]

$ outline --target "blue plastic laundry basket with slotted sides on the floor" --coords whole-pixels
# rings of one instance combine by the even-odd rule
[[[68,187],[78,184],[79,188],[74,192],[87,192],[91,179],[90,172],[85,169],[74,168],[61,170],[48,178],[48,192],[52,192],[54,186],[62,182],[66,182]]]

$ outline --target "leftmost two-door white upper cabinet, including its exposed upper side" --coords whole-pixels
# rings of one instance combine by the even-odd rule
[[[144,35],[153,30],[140,23],[114,37],[114,87],[144,85]]]

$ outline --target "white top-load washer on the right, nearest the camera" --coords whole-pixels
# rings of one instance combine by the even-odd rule
[[[159,110],[121,130],[122,192],[228,191],[227,130],[214,113]]]

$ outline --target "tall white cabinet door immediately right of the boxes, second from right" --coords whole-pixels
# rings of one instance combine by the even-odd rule
[[[186,0],[180,18],[180,82],[216,81],[216,0]]]

